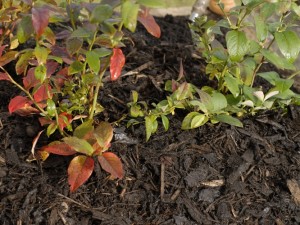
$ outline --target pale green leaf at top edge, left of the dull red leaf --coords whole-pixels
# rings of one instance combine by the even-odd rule
[[[139,5],[126,1],[122,4],[121,14],[124,26],[131,32],[135,31],[137,24],[137,16],[139,12]]]

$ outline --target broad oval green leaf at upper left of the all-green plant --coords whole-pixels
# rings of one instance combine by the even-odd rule
[[[241,61],[249,48],[245,33],[237,30],[227,32],[226,44],[230,59],[234,62]]]

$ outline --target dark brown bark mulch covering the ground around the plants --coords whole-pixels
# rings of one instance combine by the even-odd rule
[[[182,62],[188,82],[208,83],[204,63],[192,57],[185,17],[158,19],[162,38],[144,29],[131,35],[124,76],[107,82],[99,119],[115,121],[127,112],[130,91],[149,104],[164,98],[163,82],[176,79]],[[134,43],[134,45],[132,44]],[[49,225],[300,224],[300,108],[264,112],[243,119],[244,128],[207,124],[180,130],[183,114],[170,129],[145,142],[142,124],[116,128],[111,151],[126,176],[110,180],[96,167],[91,179],[69,192],[70,158],[27,162],[36,118],[7,112],[19,91],[0,83],[0,221]],[[108,97],[109,96],[109,97]],[[38,147],[48,143],[42,138]]]

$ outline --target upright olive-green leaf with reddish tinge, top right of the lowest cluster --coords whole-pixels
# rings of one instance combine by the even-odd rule
[[[107,122],[101,122],[99,126],[94,131],[94,136],[99,144],[99,146],[106,150],[113,138],[113,128]]]

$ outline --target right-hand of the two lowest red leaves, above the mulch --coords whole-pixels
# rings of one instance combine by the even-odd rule
[[[123,164],[121,160],[112,152],[104,152],[98,156],[98,161],[106,172],[110,173],[113,177],[122,179],[124,176]]]

